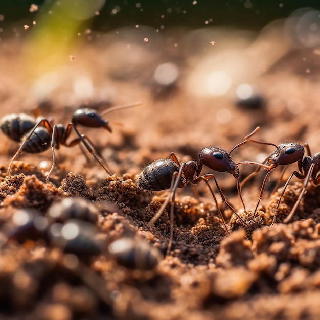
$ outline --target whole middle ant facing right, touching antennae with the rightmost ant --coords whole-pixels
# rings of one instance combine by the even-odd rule
[[[259,127],[256,128],[252,133],[246,136],[249,138],[250,136],[254,135],[259,130]],[[218,185],[218,181],[215,178],[215,175],[212,173],[200,175],[202,171],[203,165],[212,169],[214,171],[219,172],[228,172],[231,173],[237,179],[237,190],[241,202],[243,204],[243,208],[245,211],[245,205],[241,196],[241,187],[240,187],[240,180],[239,180],[239,168],[238,164],[236,164],[231,156],[230,153],[239,146],[242,146],[244,142],[236,145],[230,152],[227,152],[224,149],[218,147],[208,147],[204,148],[199,152],[198,161],[190,160],[188,162],[179,162],[176,155],[171,152],[167,159],[160,159],[156,160],[147,167],[143,169],[141,174],[139,175],[137,186],[141,190],[148,190],[148,191],[160,191],[170,188],[170,193],[166,198],[165,202],[162,204],[161,208],[158,212],[154,215],[154,217],[149,221],[148,226],[153,225],[155,221],[161,216],[167,204],[171,200],[172,203],[175,201],[175,194],[177,188],[182,188],[186,186],[189,182],[196,186],[202,180],[207,184],[211,195],[215,201],[218,213],[221,217],[222,223],[225,227],[225,230],[228,234],[230,231],[228,230],[221,210],[219,208],[217,199],[209,185],[208,180],[213,178],[217,189],[220,193],[223,203],[227,205],[227,207],[237,215],[242,221],[243,219],[237,214],[237,212],[231,207],[231,205],[226,201],[226,198]],[[262,165],[263,166],[263,165]],[[265,166],[266,167],[266,166]],[[170,241],[167,248],[167,254],[171,250],[171,245],[173,241],[173,205],[170,209]],[[245,221],[243,221],[246,223]]]

